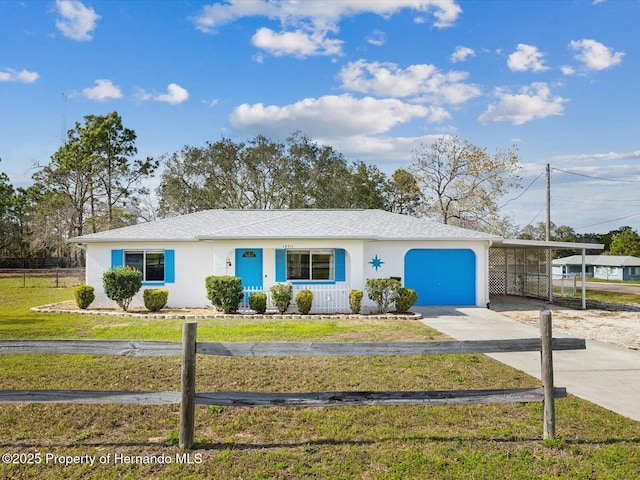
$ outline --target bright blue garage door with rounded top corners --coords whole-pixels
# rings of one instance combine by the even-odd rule
[[[416,305],[475,305],[476,256],[467,249],[416,249],[404,257],[404,284]]]

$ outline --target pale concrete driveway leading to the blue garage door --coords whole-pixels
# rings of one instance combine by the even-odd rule
[[[422,322],[456,340],[539,338],[538,328],[486,308],[415,307]],[[554,335],[557,337],[566,335]],[[540,378],[540,353],[490,357]],[[586,350],[553,352],[554,383],[567,392],[640,421],[640,351],[587,340]]]

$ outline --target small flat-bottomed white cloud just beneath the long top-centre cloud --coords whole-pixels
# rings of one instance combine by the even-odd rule
[[[267,50],[277,57],[293,55],[307,57],[310,55],[339,55],[342,50],[342,41],[329,39],[325,31],[305,32],[296,30],[293,32],[277,33],[269,28],[260,28],[252,37],[254,46]]]

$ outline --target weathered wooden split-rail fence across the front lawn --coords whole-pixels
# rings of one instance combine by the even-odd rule
[[[242,407],[329,407],[340,405],[459,405],[543,402],[544,438],[555,436],[556,398],[567,396],[553,383],[553,350],[581,350],[584,339],[552,338],[551,312],[540,314],[540,338],[435,342],[243,343],[196,342],[197,323],[183,324],[182,343],[128,340],[2,340],[0,354],[182,355],[180,392],[4,390],[0,403],[180,404],[179,445],[194,444],[195,405]],[[502,390],[343,391],[305,393],[196,393],[196,354],[235,357],[443,355],[541,352],[542,386]]]

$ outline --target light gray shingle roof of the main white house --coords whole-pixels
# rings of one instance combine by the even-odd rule
[[[383,210],[205,210],[71,239],[75,243],[237,238],[495,240],[498,237]]]

